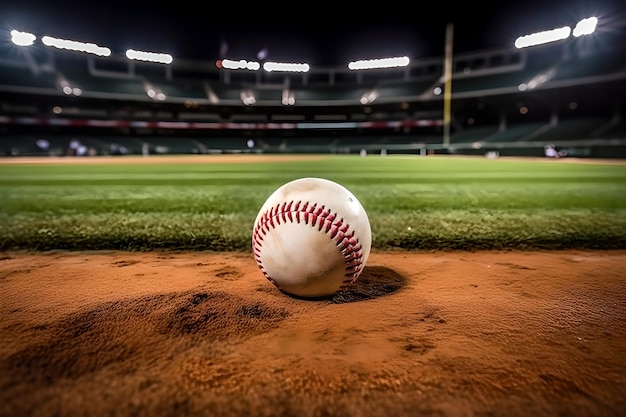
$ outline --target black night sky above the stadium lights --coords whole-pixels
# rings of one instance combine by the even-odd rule
[[[255,59],[265,50],[268,60],[325,66],[442,56],[448,24],[454,27],[455,53],[510,47],[519,35],[573,27],[591,15],[600,19],[599,30],[621,32],[622,39],[626,31],[626,5],[620,0],[510,0],[456,7],[435,1],[412,3],[410,9],[380,2],[348,11],[320,2],[291,2],[288,8],[262,2],[158,3],[61,1],[55,6],[52,0],[4,0],[0,36],[6,41],[8,31],[18,29],[94,42],[114,52],[134,48],[207,61],[219,58],[220,51],[231,59]]]

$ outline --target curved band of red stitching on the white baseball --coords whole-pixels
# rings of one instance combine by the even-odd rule
[[[279,286],[263,267],[260,256],[263,237],[270,230],[287,222],[317,227],[320,232],[326,233],[335,242],[345,260],[345,279],[339,290],[347,288],[356,281],[363,268],[363,246],[354,236],[355,231],[350,230],[350,225],[343,218],[338,217],[337,213],[327,209],[325,205],[318,206],[317,203],[310,204],[308,201],[301,200],[292,200],[269,208],[263,212],[255,225],[252,233],[254,258],[265,278],[277,287]]]

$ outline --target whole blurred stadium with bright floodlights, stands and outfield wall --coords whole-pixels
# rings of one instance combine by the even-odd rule
[[[256,57],[97,55],[7,31],[0,154],[536,157],[553,148],[624,158],[626,24],[612,25],[524,48],[442,48],[430,58],[400,57],[401,66],[288,71],[257,68],[267,62]]]

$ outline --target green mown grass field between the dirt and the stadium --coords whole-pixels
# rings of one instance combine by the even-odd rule
[[[432,156],[161,159],[0,162],[0,250],[250,251],[265,199],[306,176],[339,182],[361,200],[374,249],[626,248],[626,165]]]

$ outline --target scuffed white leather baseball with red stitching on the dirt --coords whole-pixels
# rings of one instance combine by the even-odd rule
[[[252,251],[281,291],[324,297],[356,282],[372,246],[369,218],[344,186],[300,178],[274,191],[254,221]]]

